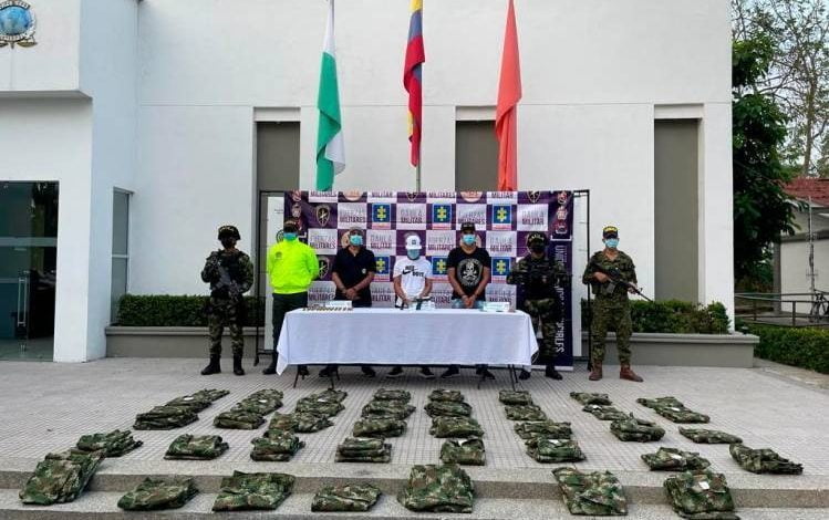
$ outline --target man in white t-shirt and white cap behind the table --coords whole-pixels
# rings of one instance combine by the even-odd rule
[[[394,264],[395,306],[412,308],[416,301],[432,292],[432,263],[421,257],[421,237],[412,235],[406,238],[406,258],[397,259]],[[396,365],[387,377],[403,375],[403,367]],[[421,375],[428,379],[435,377],[428,366],[421,366]]]

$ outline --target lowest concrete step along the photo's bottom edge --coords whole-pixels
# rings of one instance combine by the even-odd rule
[[[86,492],[71,503],[51,507],[23,506],[18,499],[17,490],[0,489],[0,518],[8,520],[121,520],[121,519],[201,519],[201,518],[280,518],[280,519],[319,519],[325,518],[370,518],[373,520],[438,520],[438,519],[526,519],[548,520],[570,518],[571,514],[561,500],[509,500],[509,499],[476,499],[472,514],[452,513],[415,513],[401,506],[394,496],[384,495],[379,503],[366,513],[314,513],[311,512],[312,493],[294,493],[288,498],[276,511],[265,512],[234,512],[214,513],[210,508],[216,499],[214,493],[199,493],[182,509],[158,512],[126,512],[117,508],[116,503],[122,493],[117,492]],[[744,520],[823,520],[829,516],[828,509],[757,509],[742,508],[738,514]],[[646,520],[664,520],[678,518],[665,505],[631,503],[629,518]]]

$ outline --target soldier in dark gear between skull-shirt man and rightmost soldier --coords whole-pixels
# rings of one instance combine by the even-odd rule
[[[547,252],[549,239],[542,232],[532,232],[527,237],[529,254],[518,261],[507,275],[507,283],[518,285],[518,308],[530,315],[532,329],[541,327],[543,343],[541,354],[547,358],[545,376],[561,379],[556,371],[556,324],[563,315],[561,299],[556,290],[570,282],[564,266]],[[521,368],[518,376],[528,379],[530,373]]]

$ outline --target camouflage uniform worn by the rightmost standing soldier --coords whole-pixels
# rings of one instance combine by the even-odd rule
[[[631,363],[631,334],[633,322],[631,321],[631,304],[628,299],[628,288],[612,282],[599,283],[591,277],[597,272],[595,264],[605,270],[616,270],[625,282],[638,283],[636,267],[633,259],[619,251],[619,256],[610,260],[603,251],[594,253],[584,269],[582,282],[590,284],[595,299],[593,300],[593,322],[591,330],[592,362],[604,361],[604,350],[608,331],[616,333],[616,349],[619,351],[619,363],[630,365]]]

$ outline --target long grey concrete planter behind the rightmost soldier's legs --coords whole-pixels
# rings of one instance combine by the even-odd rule
[[[724,366],[750,368],[759,337],[750,334],[649,334],[631,337],[634,365]],[[588,355],[588,335],[582,335],[581,352]],[[608,334],[604,362],[618,364],[615,334]]]

